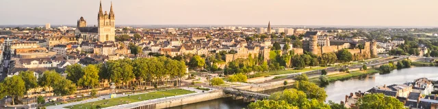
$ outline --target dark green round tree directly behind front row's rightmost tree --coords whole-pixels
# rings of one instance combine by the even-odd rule
[[[68,65],[66,68],[67,79],[77,83],[77,81],[83,76],[82,66],[75,63],[73,65]]]

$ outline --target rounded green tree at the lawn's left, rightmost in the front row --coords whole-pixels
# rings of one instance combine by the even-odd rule
[[[64,98],[66,95],[72,95],[76,91],[76,86],[71,82],[71,80],[61,79],[53,84],[53,93],[56,95],[61,95]]]

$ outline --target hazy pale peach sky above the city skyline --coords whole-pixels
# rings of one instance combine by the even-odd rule
[[[110,11],[111,0],[102,0]],[[112,0],[116,25],[438,27],[438,0]],[[99,0],[0,0],[0,25],[96,24]]]

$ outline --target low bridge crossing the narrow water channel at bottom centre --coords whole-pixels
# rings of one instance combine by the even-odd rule
[[[239,89],[226,88],[222,89],[224,93],[232,95],[233,99],[244,99],[244,102],[252,102],[257,99],[266,99],[270,95],[263,93],[255,93],[251,91],[244,91]]]

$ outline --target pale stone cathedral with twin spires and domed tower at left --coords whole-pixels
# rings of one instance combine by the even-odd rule
[[[94,25],[94,27],[87,27],[87,21],[81,17],[77,20],[77,29],[75,35],[78,36],[78,39],[83,41],[99,41],[99,42],[107,42],[107,41],[116,41],[116,18],[114,16],[114,11],[112,9],[112,3],[110,7],[110,12],[103,12],[102,10],[102,1],[99,7],[99,13],[97,14],[97,22],[98,25]],[[81,42],[79,42],[81,43]]]

